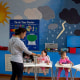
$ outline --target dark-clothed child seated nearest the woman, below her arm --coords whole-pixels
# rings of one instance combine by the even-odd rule
[[[34,62],[34,57],[32,56],[32,55],[28,55],[28,54],[26,54],[26,53],[24,53],[23,52],[23,61],[25,62],[25,63],[32,63],[32,62]],[[25,67],[24,67],[24,72],[25,72]],[[30,73],[30,67],[27,69],[27,72],[28,72],[28,74]]]

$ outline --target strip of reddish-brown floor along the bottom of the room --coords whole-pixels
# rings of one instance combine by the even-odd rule
[[[0,75],[0,80],[10,80],[11,75]],[[17,80],[17,78],[16,78]],[[35,80],[33,76],[23,76],[23,80]],[[50,77],[38,77],[38,80],[52,80]],[[55,79],[57,80],[57,79]],[[66,80],[66,78],[60,78],[59,80]],[[68,80],[71,80],[70,78]],[[74,80],[80,80],[75,78]]]

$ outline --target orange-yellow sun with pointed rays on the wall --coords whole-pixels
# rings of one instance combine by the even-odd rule
[[[8,16],[8,14],[11,14],[11,12],[8,12],[10,7],[6,7],[8,3],[0,2],[0,23],[4,25],[4,22],[8,23],[7,18],[10,19],[11,17]]]

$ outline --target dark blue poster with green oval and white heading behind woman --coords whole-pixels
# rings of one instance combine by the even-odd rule
[[[27,30],[22,39],[29,50],[39,50],[39,20],[10,20],[10,38],[19,27]]]

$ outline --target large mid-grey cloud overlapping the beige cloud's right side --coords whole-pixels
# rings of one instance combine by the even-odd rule
[[[42,18],[45,20],[55,18],[54,11],[49,6],[38,7],[38,10],[42,13]]]

